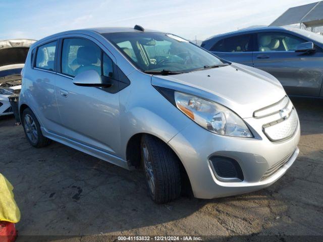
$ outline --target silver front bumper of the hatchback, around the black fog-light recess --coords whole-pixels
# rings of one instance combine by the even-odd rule
[[[275,183],[294,163],[299,149],[298,127],[288,140],[272,142],[263,134],[258,119],[245,119],[251,127],[259,127],[255,138],[239,138],[213,134],[195,123],[178,133],[169,145],[182,161],[189,176],[194,196],[211,199],[256,191]],[[261,121],[262,122],[262,121]],[[210,157],[220,155],[235,159],[243,172],[244,180],[224,182],[214,174]],[[277,171],[263,179],[268,169],[288,157]]]

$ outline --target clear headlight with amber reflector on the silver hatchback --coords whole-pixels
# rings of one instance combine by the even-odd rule
[[[175,91],[178,109],[194,122],[219,135],[253,137],[243,120],[219,103]]]

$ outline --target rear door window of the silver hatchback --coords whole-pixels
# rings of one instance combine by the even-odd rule
[[[54,70],[56,42],[53,41],[38,47],[35,67],[49,71]]]

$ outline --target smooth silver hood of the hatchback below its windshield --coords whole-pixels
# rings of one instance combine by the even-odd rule
[[[172,76],[152,76],[151,84],[218,102],[242,118],[282,99],[280,82],[261,70],[232,63],[230,66]]]

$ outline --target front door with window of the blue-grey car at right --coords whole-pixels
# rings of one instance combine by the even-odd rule
[[[295,52],[296,46],[308,42],[285,32],[257,34],[257,51],[253,65],[275,76],[289,95],[319,96],[322,79],[322,49]]]

